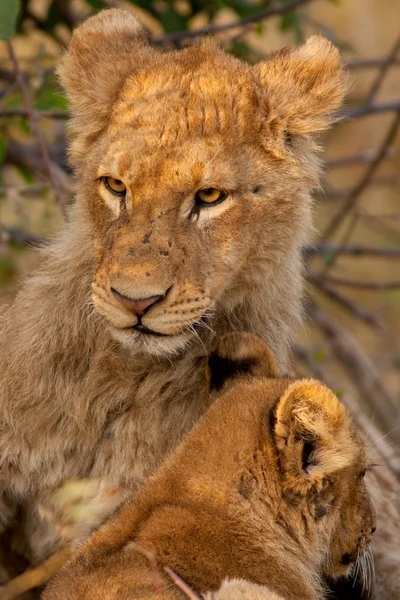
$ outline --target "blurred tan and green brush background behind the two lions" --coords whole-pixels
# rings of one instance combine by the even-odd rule
[[[54,68],[72,29],[111,6],[166,51],[211,34],[256,62],[316,32],[342,51],[351,88],[321,139],[296,369],[343,396],[400,475],[399,0],[1,0],[0,314],[76,190]]]

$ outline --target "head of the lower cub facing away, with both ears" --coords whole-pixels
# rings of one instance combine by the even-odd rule
[[[267,346],[250,334],[222,337],[209,375],[222,390],[209,415],[220,412],[230,432],[215,478],[223,480],[225,469],[232,479],[227,455],[237,447],[232,468],[240,463],[237,489],[254,530],[262,530],[263,520],[281,524],[288,536],[278,546],[295,540],[321,575],[347,574],[369,552],[375,531],[364,482],[370,464],[349,411],[319,381],[279,377]],[[211,419],[218,422],[213,414],[210,428]]]

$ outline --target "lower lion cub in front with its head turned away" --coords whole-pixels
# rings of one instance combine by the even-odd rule
[[[318,600],[368,550],[367,455],[336,396],[278,377],[250,334],[219,341],[208,379],[214,404],[43,600],[184,597],[166,566],[220,600]]]

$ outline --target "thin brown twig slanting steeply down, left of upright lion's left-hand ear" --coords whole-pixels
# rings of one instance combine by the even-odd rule
[[[38,119],[37,119],[37,116],[35,114],[35,110],[34,110],[34,108],[32,106],[31,97],[30,97],[28,88],[25,85],[25,80],[24,80],[24,77],[22,75],[22,71],[21,71],[21,69],[19,67],[18,59],[17,59],[17,56],[16,56],[15,51],[14,51],[14,46],[13,46],[11,40],[8,40],[7,44],[8,44],[8,51],[9,51],[9,54],[10,54],[10,59],[11,59],[11,61],[13,63],[13,66],[14,66],[15,78],[16,78],[16,81],[18,83],[19,89],[21,91],[21,95],[22,95],[22,99],[23,99],[25,108],[26,108],[26,110],[28,112],[28,119],[29,119],[29,124],[30,124],[31,130],[32,130],[32,133],[34,134],[34,136],[36,138],[36,141],[37,141],[37,144],[38,144],[38,147],[39,147],[39,150],[40,150],[40,154],[42,155],[43,162],[44,162],[45,167],[46,167],[48,178],[49,178],[49,180],[50,180],[50,182],[51,182],[51,184],[53,186],[53,189],[54,189],[54,194],[55,194],[55,196],[57,198],[57,201],[58,201],[58,203],[60,205],[60,208],[61,208],[61,210],[62,210],[62,212],[64,214],[64,217],[66,218],[67,217],[67,209],[66,209],[64,197],[63,197],[61,188],[60,188],[60,186],[58,184],[58,181],[54,177],[52,169],[51,169],[49,154],[47,152],[46,145],[44,143],[44,140],[43,140],[42,134],[40,132],[40,129],[38,127]]]

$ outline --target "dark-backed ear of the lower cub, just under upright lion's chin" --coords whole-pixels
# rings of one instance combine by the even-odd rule
[[[208,360],[210,388],[221,389],[227,380],[241,374],[274,377],[278,369],[270,349],[259,337],[244,332],[228,333],[217,340]]]

